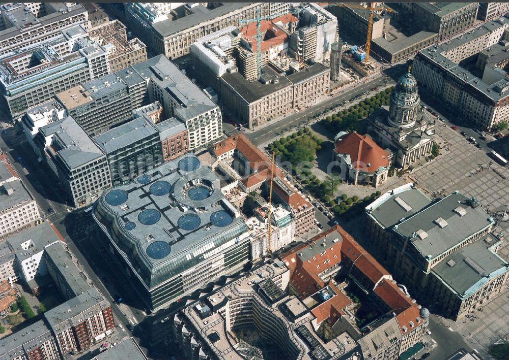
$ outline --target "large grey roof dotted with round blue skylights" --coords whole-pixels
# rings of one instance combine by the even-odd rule
[[[239,211],[224,199],[219,179],[193,154],[103,192],[98,203],[151,272],[148,287],[199,262],[206,248],[247,231]]]

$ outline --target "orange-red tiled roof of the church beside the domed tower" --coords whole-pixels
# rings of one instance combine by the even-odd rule
[[[380,167],[389,166],[387,152],[367,135],[343,135],[336,140],[334,151],[350,155],[352,167],[356,170],[375,172]]]

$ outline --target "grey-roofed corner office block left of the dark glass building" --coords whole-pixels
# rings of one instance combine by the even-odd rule
[[[106,155],[71,116],[39,128],[34,142],[69,206],[90,204],[111,187]]]

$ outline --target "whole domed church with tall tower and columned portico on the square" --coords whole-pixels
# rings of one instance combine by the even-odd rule
[[[417,80],[407,73],[400,77],[390,95],[390,105],[377,109],[369,118],[373,140],[393,160],[396,168],[408,169],[430,156],[435,139],[435,120],[419,107]]]

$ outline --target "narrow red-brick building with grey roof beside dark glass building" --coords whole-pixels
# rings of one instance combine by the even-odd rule
[[[186,125],[172,117],[156,124],[161,140],[162,161],[173,160],[189,152],[189,136]]]

